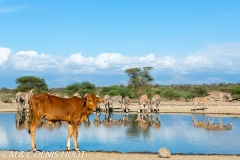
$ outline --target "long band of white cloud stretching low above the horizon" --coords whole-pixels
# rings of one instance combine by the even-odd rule
[[[198,71],[218,71],[239,74],[240,43],[209,44],[203,50],[189,53],[185,57],[159,56],[153,53],[146,56],[123,56],[120,53],[101,53],[96,57],[82,53],[69,57],[53,56],[36,51],[19,51],[11,54],[8,48],[0,48],[0,66],[17,70],[49,71],[63,73],[123,73],[127,68],[152,66],[158,73],[174,77]],[[181,77],[181,76],[180,76]],[[175,78],[174,78],[175,79]],[[183,79],[184,81],[184,79]],[[191,80],[190,80],[191,81]]]

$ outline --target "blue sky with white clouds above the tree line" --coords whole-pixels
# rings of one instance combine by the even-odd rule
[[[22,76],[49,87],[240,82],[240,1],[0,0],[0,87]]]

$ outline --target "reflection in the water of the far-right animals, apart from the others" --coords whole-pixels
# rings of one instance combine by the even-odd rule
[[[228,125],[223,125],[222,118],[218,117],[218,123],[214,123],[214,117],[212,120],[210,120],[210,117],[208,117],[208,122],[206,121],[205,115],[202,116],[203,121],[198,121],[196,119],[196,115],[192,115],[193,119],[193,125],[196,128],[205,128],[207,130],[213,130],[213,131],[221,131],[221,130],[231,130],[232,129],[232,123],[228,123]]]

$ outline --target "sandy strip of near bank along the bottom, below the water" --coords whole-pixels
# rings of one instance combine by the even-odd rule
[[[158,153],[141,153],[141,152],[102,152],[102,151],[16,151],[16,150],[1,150],[0,157],[3,160],[10,159],[58,159],[58,160],[70,160],[70,159],[84,159],[84,160],[139,160],[139,159],[152,159],[159,160]],[[237,160],[240,155],[221,155],[221,154],[172,154],[171,160]],[[162,159],[162,158],[160,158]],[[165,158],[163,158],[165,159]]]

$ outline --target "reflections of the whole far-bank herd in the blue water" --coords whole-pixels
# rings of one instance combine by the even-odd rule
[[[150,113],[150,114],[137,114],[133,115],[132,118],[129,118],[128,113],[121,113],[120,117],[119,114],[113,114],[112,112],[103,114],[104,118],[101,120],[101,113],[95,114],[95,119],[93,120],[93,124],[95,127],[99,127],[101,124],[105,128],[109,128],[110,126],[125,126],[129,127],[130,124],[137,122],[137,126],[140,130],[146,131],[149,127],[154,129],[160,129],[161,122],[160,122],[160,114],[158,113]],[[135,118],[136,117],[136,118]],[[197,118],[198,117],[198,118]],[[197,115],[192,114],[193,126],[196,128],[204,128],[208,131],[221,131],[221,130],[231,130],[232,129],[232,122],[228,124],[223,124],[222,117],[210,117],[205,116],[205,114]],[[62,125],[67,126],[67,122],[56,121],[56,122],[49,122],[44,118],[39,123],[38,128],[44,128],[49,131],[53,131],[54,129],[59,129]],[[90,128],[91,121],[89,117],[82,122],[82,124],[86,129]],[[29,130],[30,126],[30,115],[27,112],[17,112],[15,115],[15,126],[17,130]]]

